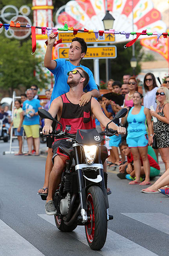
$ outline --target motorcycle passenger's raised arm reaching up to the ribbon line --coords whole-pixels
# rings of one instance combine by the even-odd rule
[[[44,66],[45,68],[49,69],[55,69],[57,66],[57,62],[55,60],[52,60],[52,49],[53,45],[55,44],[55,34],[51,33],[47,39],[47,49],[45,53],[45,58],[44,58]]]

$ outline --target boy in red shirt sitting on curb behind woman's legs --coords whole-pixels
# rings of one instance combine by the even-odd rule
[[[125,163],[123,163],[123,165],[119,166],[119,173],[117,174],[117,176],[120,179],[126,178],[129,180],[134,180],[134,177],[135,177],[135,171],[134,171],[134,166],[133,166],[134,159],[133,159],[133,155],[131,154],[131,149],[128,147],[128,145],[125,141],[123,141],[119,147],[120,147],[121,151],[123,152],[123,154],[127,156],[127,161]],[[160,166],[158,165],[156,160],[154,160],[154,158],[155,158],[154,150],[153,150],[153,148],[151,148],[151,146],[149,146],[148,147],[148,159],[149,159],[149,163],[150,163],[150,177],[155,177],[160,174]],[[144,172],[143,162],[142,162],[141,157],[140,157],[140,161],[142,163],[141,176],[144,177],[145,172]]]

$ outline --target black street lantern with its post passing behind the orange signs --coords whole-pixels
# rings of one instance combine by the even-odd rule
[[[106,9],[107,9],[107,1],[105,3]],[[105,12],[105,16],[102,19],[103,24],[104,24],[104,29],[105,30],[109,30],[113,28],[113,22],[114,22],[114,18],[113,16],[109,13],[109,11]],[[109,45],[109,44],[106,44]],[[106,81],[108,81],[109,78],[109,74],[111,71],[111,65],[110,65],[110,59],[105,59],[105,77],[106,77]]]

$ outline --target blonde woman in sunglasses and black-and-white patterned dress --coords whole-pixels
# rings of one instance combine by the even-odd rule
[[[169,90],[161,87],[156,92],[156,111],[150,111],[157,118],[154,126],[154,136],[157,148],[165,164],[165,170],[169,168]]]

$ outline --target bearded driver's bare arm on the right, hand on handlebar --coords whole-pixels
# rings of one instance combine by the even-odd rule
[[[95,115],[95,117],[98,119],[98,121],[106,127],[107,123],[110,122],[110,119],[108,119],[104,113],[102,112],[102,109],[100,107],[100,104],[96,99],[92,98],[91,100],[91,109],[92,113]],[[113,130],[117,130],[118,134],[125,134],[125,128],[124,127],[118,127],[113,122],[109,124],[109,128],[112,128]]]

